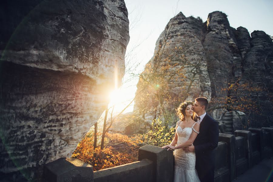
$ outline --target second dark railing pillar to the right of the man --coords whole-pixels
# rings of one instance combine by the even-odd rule
[[[248,168],[252,167],[252,145],[251,145],[251,132],[245,130],[236,130],[235,136],[243,136],[246,139],[247,156],[248,156]]]

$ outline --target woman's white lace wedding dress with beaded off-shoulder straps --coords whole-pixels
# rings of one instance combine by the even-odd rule
[[[180,122],[180,121],[179,121]],[[182,129],[177,122],[177,145],[186,142],[192,132],[196,132],[192,127]],[[199,132],[196,132],[199,133]],[[195,152],[184,152],[183,149],[174,150],[174,182],[200,182],[195,170]]]

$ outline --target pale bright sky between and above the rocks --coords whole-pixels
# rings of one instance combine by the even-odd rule
[[[130,41],[126,50],[126,61],[139,64],[134,70],[140,74],[145,64],[153,57],[155,43],[167,23],[182,12],[186,17],[201,17],[207,20],[209,13],[221,11],[227,15],[230,26],[243,26],[249,33],[265,31],[273,36],[273,0],[124,0],[128,10]],[[125,74],[124,81],[130,80],[112,94],[109,106],[115,105],[114,112],[120,112],[134,98],[137,78]],[[130,112],[133,105],[125,110]]]

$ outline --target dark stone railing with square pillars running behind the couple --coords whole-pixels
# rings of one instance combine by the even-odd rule
[[[265,158],[273,156],[273,128],[236,130],[219,134],[214,181],[230,182]],[[45,165],[44,181],[89,182],[172,182],[174,153],[146,145],[139,149],[137,162],[93,172],[77,159],[62,158]]]

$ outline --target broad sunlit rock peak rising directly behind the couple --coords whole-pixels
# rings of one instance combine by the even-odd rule
[[[201,42],[204,35],[202,28],[201,19],[186,18],[180,12],[170,20],[160,34],[156,43],[155,56],[147,63],[142,73],[145,81],[148,80],[150,85],[157,85],[157,88],[143,89],[142,86],[145,85],[145,83],[142,84],[143,79],[137,85],[134,110],[143,109],[143,106],[152,108],[152,112],[138,112],[144,112],[145,119],[152,120],[163,110],[174,109],[172,105],[164,105],[169,98],[177,101],[182,98],[192,100],[199,94],[204,94],[208,99],[211,98],[211,81],[208,77],[207,61]],[[150,68],[152,68],[152,74],[150,74]],[[183,79],[184,77],[190,79]],[[157,95],[155,98],[152,98],[150,93],[139,92],[139,90],[149,89]],[[151,105],[145,98],[151,99],[150,102],[153,104]],[[160,103],[159,107],[156,106],[157,103]],[[153,107],[156,109],[153,110]]]

